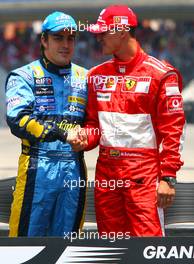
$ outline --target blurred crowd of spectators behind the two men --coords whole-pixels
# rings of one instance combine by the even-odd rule
[[[194,78],[194,21],[144,20],[137,39],[149,54],[175,65],[186,85]],[[7,71],[40,56],[40,22],[8,23],[0,27],[0,67]],[[77,36],[74,62],[90,68],[104,61],[95,37],[84,31]]]

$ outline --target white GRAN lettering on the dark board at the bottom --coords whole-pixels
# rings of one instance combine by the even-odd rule
[[[143,251],[146,259],[194,259],[193,246],[148,246]]]

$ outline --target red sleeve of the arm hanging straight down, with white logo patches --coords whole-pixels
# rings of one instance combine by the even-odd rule
[[[183,165],[181,150],[185,117],[181,91],[182,78],[178,72],[172,71],[161,80],[157,104],[161,178],[176,177],[176,172]]]

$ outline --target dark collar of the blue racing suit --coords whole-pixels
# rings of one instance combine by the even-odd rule
[[[57,75],[67,75],[71,72],[71,62],[64,67],[60,67],[49,61],[45,56],[42,56],[40,58],[40,63],[47,71]]]

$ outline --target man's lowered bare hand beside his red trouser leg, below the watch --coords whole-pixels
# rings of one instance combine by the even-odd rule
[[[172,205],[175,197],[175,188],[170,186],[166,181],[160,181],[157,189],[158,206],[166,208]]]

